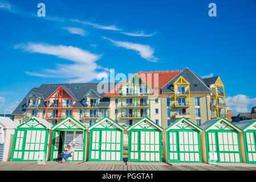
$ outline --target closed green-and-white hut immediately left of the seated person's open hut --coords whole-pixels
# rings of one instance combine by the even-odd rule
[[[50,154],[51,123],[32,117],[17,126],[11,161],[45,161]]]

